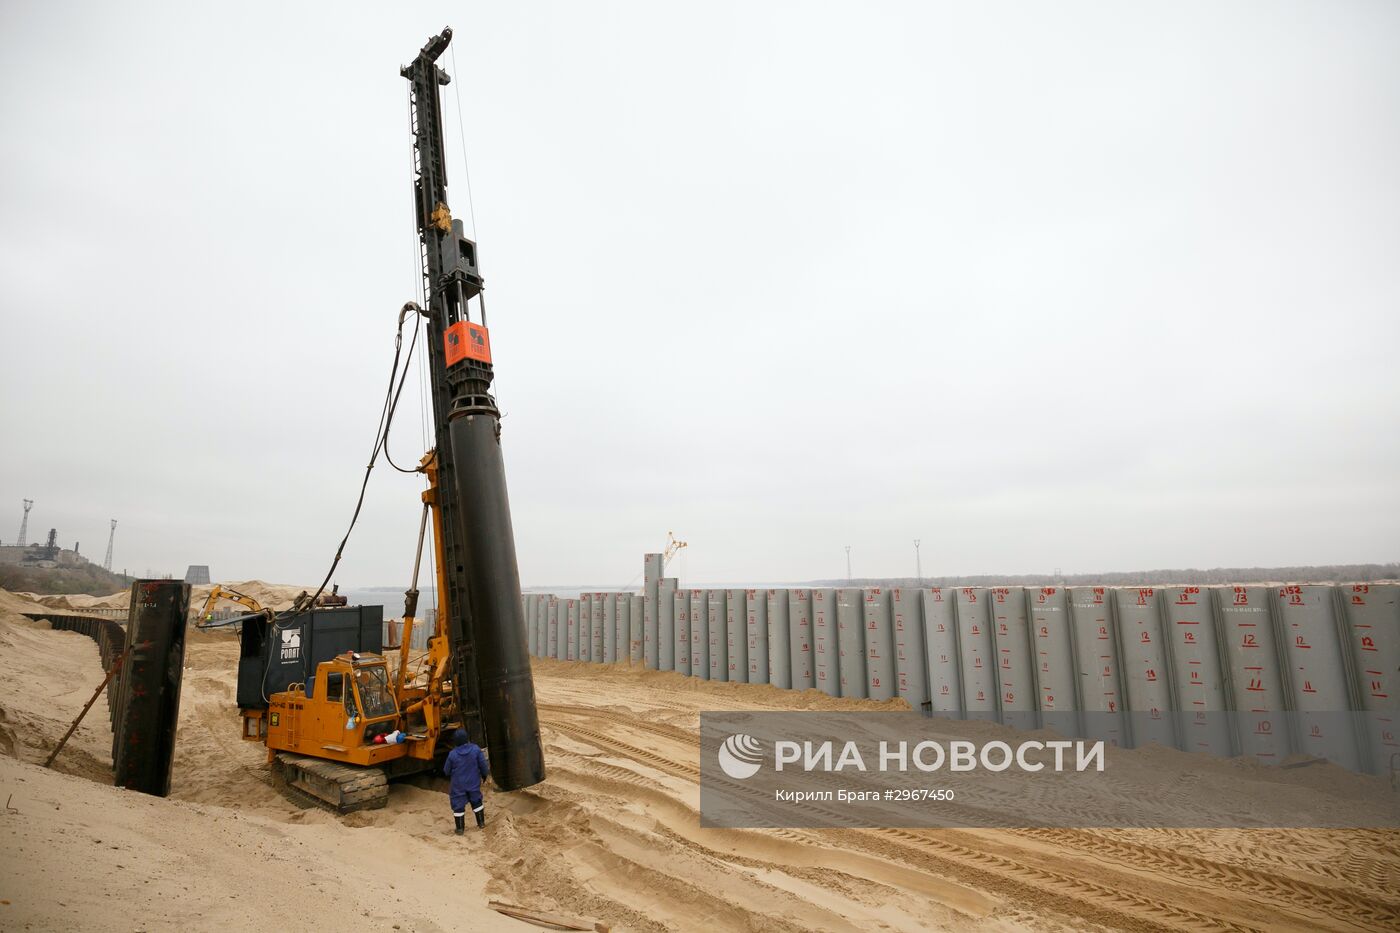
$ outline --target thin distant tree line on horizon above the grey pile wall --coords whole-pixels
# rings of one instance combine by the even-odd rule
[[[925,576],[914,577],[857,577],[850,586],[861,587],[1050,587],[1050,586],[1106,586],[1147,587],[1184,584],[1226,584],[1226,583],[1376,583],[1379,580],[1400,580],[1400,563],[1334,563],[1316,567],[1211,567],[1197,570],[1113,570],[1109,573],[993,573],[965,577]],[[811,586],[843,587],[846,580],[813,580]]]

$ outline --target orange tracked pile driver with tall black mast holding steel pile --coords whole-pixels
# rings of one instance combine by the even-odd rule
[[[244,738],[265,742],[269,761],[288,783],[340,811],[382,807],[388,779],[431,768],[444,754],[444,737],[458,727],[487,751],[491,779],[501,790],[545,779],[501,420],[491,395],[484,283],[476,244],[452,217],[447,199],[438,88],[451,78],[437,60],[451,41],[452,31],[444,29],[400,70],[410,84],[413,191],[427,307],[410,301],[399,322],[400,333],[409,317],[427,329],[434,447],[419,465],[428,483],[413,583],[405,594],[398,670],[391,672],[378,650],[342,650],[343,640],[307,632],[315,614],[302,615],[298,623],[298,609],[245,626],[241,635],[241,688],[242,664],[258,667],[258,689],[251,698],[242,689],[239,695]],[[438,612],[427,654],[410,671],[409,642],[430,520]],[[290,678],[288,660],[295,671]],[[277,671],[273,682],[269,671]]]

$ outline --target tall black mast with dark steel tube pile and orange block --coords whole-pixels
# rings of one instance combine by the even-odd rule
[[[501,459],[501,417],[491,398],[491,345],[476,244],[447,199],[437,59],[452,29],[428,39],[400,69],[412,85],[414,205],[427,296],[428,359],[442,517],[441,580],[452,639],[452,684],[462,721],[490,752],[503,790],[545,779],[519,567]],[[468,303],[477,300],[479,321]]]

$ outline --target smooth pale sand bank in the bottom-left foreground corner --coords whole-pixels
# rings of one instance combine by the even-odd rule
[[[4,756],[0,780],[4,929],[451,930],[484,909],[456,836],[158,800]]]

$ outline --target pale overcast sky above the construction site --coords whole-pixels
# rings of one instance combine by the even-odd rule
[[[1337,0],[7,0],[0,539],[319,581],[447,24],[526,586],[1400,558],[1400,4]]]

